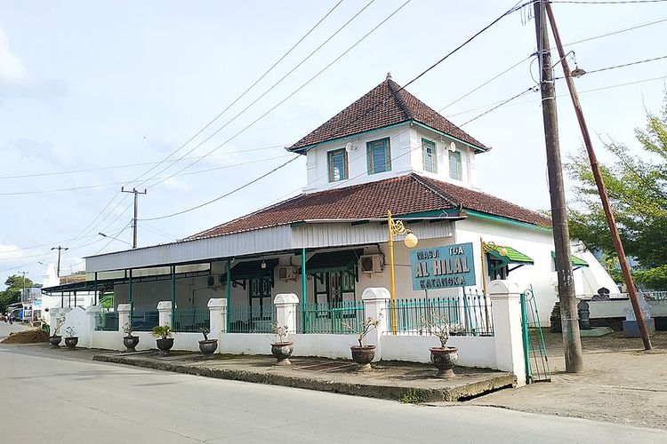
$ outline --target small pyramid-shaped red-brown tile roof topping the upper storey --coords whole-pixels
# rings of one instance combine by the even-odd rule
[[[303,147],[327,140],[340,139],[360,132],[411,121],[423,123],[434,130],[478,147],[480,150],[488,150],[484,144],[404,90],[389,76],[387,80],[367,92],[361,99],[334,115],[317,130],[312,131],[288,149],[300,151]]]

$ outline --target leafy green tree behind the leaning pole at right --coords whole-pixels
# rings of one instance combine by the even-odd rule
[[[667,289],[667,95],[660,114],[648,113],[644,129],[635,130],[641,151],[614,141],[605,148],[615,163],[600,164],[625,253],[639,262],[636,281],[650,289]],[[584,152],[567,163],[576,185],[569,209],[570,235],[588,248],[615,257],[599,194]]]

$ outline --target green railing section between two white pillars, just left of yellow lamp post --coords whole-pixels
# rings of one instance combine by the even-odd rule
[[[306,304],[297,307],[296,331],[299,333],[350,334],[364,321],[364,305],[346,302],[340,305]]]

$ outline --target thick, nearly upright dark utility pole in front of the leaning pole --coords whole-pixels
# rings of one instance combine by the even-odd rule
[[[567,227],[567,209],[563,169],[560,162],[559,123],[556,113],[556,95],[551,68],[549,31],[546,28],[544,0],[534,3],[535,35],[540,62],[540,89],[542,91],[542,120],[547,149],[547,170],[551,200],[553,242],[556,250],[556,272],[559,281],[560,322],[563,329],[565,369],[569,373],[583,370],[582,339],[579,337],[575,281],[572,276],[570,234]]]

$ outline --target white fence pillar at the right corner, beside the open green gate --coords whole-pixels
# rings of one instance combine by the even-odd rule
[[[517,283],[499,280],[489,283],[488,292],[494,316],[496,368],[514,373],[517,386],[526,385],[521,331],[521,291]]]

